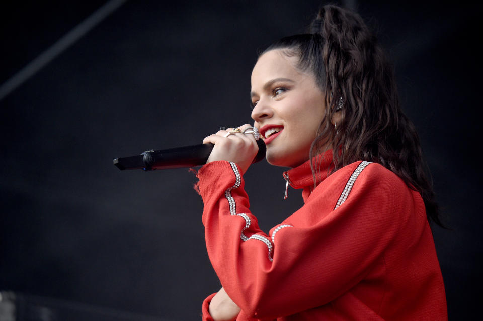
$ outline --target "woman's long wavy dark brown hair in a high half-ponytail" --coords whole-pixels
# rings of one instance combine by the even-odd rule
[[[392,64],[362,18],[326,5],[312,21],[310,33],[282,38],[263,53],[274,49],[297,56],[296,67],[315,76],[328,102],[310,159],[337,146],[332,172],[358,160],[381,164],[418,191],[428,221],[443,226],[416,128],[400,108]],[[337,129],[330,121],[335,113],[343,116]],[[317,167],[311,162],[315,184]]]

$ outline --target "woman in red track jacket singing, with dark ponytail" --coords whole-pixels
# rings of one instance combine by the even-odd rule
[[[414,126],[361,18],[323,7],[252,72],[252,118],[204,139],[206,246],[221,290],[204,320],[447,319],[429,221],[441,224]],[[258,147],[304,206],[269,234],[244,191]]]

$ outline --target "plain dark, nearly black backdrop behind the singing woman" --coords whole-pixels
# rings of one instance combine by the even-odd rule
[[[15,2],[0,13],[0,84],[104,1]],[[112,159],[201,143],[251,122],[257,52],[301,33],[319,1],[128,1],[0,100],[0,290],[172,320],[219,289],[187,169],[119,171]],[[451,230],[434,228],[450,319],[481,299],[481,10],[346,2],[378,32]],[[479,30],[479,31],[478,31]],[[246,174],[270,227],[283,168]]]

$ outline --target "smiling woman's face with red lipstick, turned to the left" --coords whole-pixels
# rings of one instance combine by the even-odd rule
[[[311,73],[281,50],[264,53],[252,72],[252,118],[272,165],[296,167],[309,159],[310,145],[324,121],[325,94]]]

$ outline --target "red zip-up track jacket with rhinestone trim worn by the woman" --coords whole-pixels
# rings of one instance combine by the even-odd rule
[[[208,255],[237,320],[446,320],[420,194],[375,163],[355,162],[313,189],[309,161],[286,172],[305,204],[267,235],[234,163],[198,172]],[[203,302],[203,320],[211,320]]]

